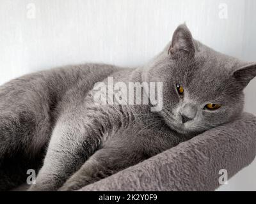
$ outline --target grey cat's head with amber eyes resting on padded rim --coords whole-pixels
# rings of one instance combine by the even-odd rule
[[[150,63],[144,77],[163,82],[166,123],[179,133],[196,133],[235,119],[243,111],[243,89],[256,76],[256,63],[220,54],[180,25],[171,43]]]

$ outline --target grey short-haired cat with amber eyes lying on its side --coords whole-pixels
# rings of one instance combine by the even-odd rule
[[[74,191],[175,147],[243,112],[256,63],[220,54],[179,25],[139,68],[83,64],[17,78],[0,87],[0,190]],[[163,108],[95,103],[97,82],[162,82]],[[145,87],[142,87],[145,91]]]

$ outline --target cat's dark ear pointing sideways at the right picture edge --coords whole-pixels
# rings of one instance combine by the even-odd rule
[[[256,77],[256,62],[242,66],[233,72],[237,82],[245,88]]]

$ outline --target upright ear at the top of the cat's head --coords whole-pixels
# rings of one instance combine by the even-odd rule
[[[180,53],[192,57],[195,55],[193,37],[186,24],[182,24],[177,27],[173,33],[172,44],[168,50],[168,54],[170,55],[177,55]]]

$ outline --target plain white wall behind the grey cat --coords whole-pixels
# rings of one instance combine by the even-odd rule
[[[65,64],[141,65],[185,21],[196,39],[256,61],[255,13],[254,0],[0,0],[0,84]],[[246,111],[256,114],[255,86]],[[221,189],[256,190],[255,170],[256,162]]]

